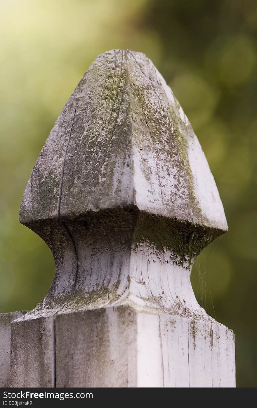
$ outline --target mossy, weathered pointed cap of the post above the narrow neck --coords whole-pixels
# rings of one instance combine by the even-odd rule
[[[57,119],[20,221],[129,205],[227,229],[207,161],[172,91],[144,54],[114,50],[96,58]]]

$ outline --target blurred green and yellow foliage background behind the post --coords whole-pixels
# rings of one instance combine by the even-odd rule
[[[237,386],[257,386],[257,2],[0,2],[0,312],[31,309],[54,276],[50,250],[18,224],[37,156],[89,64],[142,51],[172,87],[216,179],[229,232],[198,257],[196,297],[235,332]]]

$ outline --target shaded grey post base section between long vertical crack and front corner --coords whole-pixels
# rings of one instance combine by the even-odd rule
[[[56,386],[136,387],[136,340],[136,313],[127,306],[60,313]]]

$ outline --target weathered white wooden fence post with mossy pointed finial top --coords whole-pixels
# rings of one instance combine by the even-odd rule
[[[192,263],[227,222],[196,135],[142,53],[100,55],[33,168],[20,222],[50,247],[45,299],[11,324],[12,386],[234,387],[233,332]]]

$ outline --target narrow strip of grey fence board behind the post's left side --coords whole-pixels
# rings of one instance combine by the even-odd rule
[[[11,322],[24,313],[26,312],[0,314],[0,387],[10,386]]]

